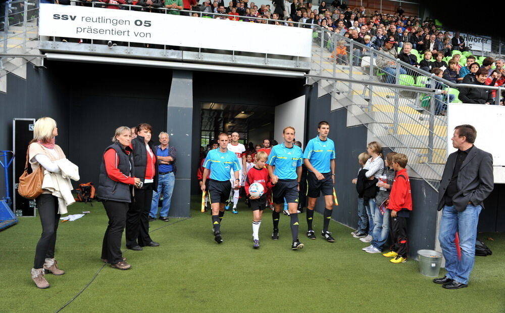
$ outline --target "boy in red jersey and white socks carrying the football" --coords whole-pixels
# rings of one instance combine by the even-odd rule
[[[252,242],[254,242],[252,247],[255,249],[260,247],[260,238],[258,237],[258,233],[260,231],[261,217],[267,200],[267,191],[272,188],[270,176],[267,168],[265,167],[267,160],[267,153],[263,151],[258,152],[256,154],[256,166],[249,169],[245,178],[245,193],[249,198],[249,205],[252,210]],[[263,186],[264,192],[261,197],[252,197],[249,194],[249,186],[254,183],[259,183]]]

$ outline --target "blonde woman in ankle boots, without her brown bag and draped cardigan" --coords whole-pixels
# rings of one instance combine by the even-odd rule
[[[42,166],[45,171],[61,177],[61,169],[55,161],[66,157],[60,146],[56,144],[56,136],[58,136],[58,127],[51,117],[42,117],[35,122],[33,140],[28,146],[28,158],[33,171]],[[31,277],[35,285],[41,289],[49,288],[49,283],[44,277],[45,272],[54,275],[65,274],[58,268],[55,259],[56,232],[60,213],[66,213],[66,208],[59,206],[58,199],[47,189],[43,189],[42,194],[35,199],[42,224],[42,235],[35,249]]]

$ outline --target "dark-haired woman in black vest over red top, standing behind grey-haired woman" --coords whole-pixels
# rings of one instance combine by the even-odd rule
[[[160,244],[149,237],[149,211],[153,190],[158,189],[158,162],[151,140],[153,127],[147,123],[137,126],[137,137],[131,141],[135,175],[142,186],[135,189],[126,218],[126,247],[140,251],[142,247],[157,247]]]

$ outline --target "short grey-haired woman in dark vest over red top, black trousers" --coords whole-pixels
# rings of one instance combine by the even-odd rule
[[[122,256],[121,238],[126,225],[128,204],[131,202],[131,186],[138,186],[140,179],[134,177],[130,127],[118,127],[112,141],[114,144],[104,152],[96,190],[109,217],[102,245],[102,259],[116,269],[128,270],[131,265]]]

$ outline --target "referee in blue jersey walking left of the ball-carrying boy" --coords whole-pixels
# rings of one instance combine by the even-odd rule
[[[219,149],[209,151],[204,161],[204,176],[201,180],[201,191],[205,192],[205,182],[211,171],[209,182],[209,199],[212,208],[212,226],[214,228],[214,240],[217,243],[223,242],[221,236],[221,219],[224,216],[224,205],[230,196],[230,169],[233,169],[235,176],[234,188],[238,188],[240,180],[238,171],[240,164],[237,162],[235,153],[228,150],[228,135],[222,132],[218,137]]]

